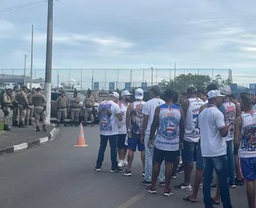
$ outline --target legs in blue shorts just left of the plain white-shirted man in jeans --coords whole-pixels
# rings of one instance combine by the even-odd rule
[[[185,169],[184,183],[174,186],[177,190],[192,190],[190,185],[191,172],[193,170],[194,152],[197,150],[198,142],[183,142],[182,162]]]

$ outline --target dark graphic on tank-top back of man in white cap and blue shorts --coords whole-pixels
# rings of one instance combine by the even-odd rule
[[[131,126],[134,134],[142,134],[142,103],[138,103],[131,112]]]

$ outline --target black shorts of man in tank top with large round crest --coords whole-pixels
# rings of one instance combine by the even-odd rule
[[[158,148],[154,147],[153,161],[159,162],[159,163],[162,163],[162,161],[175,162],[179,155],[180,155],[179,150],[166,151],[166,150],[159,150]]]

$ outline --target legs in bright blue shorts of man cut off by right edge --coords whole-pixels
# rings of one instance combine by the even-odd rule
[[[248,207],[255,207],[256,158],[240,158],[241,169],[246,179]]]

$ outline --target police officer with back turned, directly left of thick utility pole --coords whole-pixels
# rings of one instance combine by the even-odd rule
[[[42,118],[42,130],[46,131],[46,97],[41,94],[41,88],[38,87],[36,93],[33,94],[32,104],[34,105],[34,118],[36,123],[36,131],[40,131],[39,121]]]

